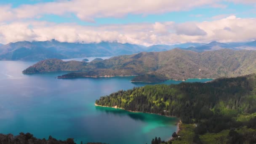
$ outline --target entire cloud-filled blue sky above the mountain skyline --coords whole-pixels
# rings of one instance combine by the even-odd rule
[[[256,0],[0,0],[0,43],[256,40]]]

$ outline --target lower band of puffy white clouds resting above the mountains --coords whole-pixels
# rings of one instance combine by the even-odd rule
[[[78,24],[55,24],[42,21],[0,24],[0,43],[22,40],[51,40],[61,42],[99,43],[117,41],[140,45],[243,42],[255,40],[256,18],[237,18],[203,22],[175,23],[155,22],[138,24],[111,24],[80,26]]]

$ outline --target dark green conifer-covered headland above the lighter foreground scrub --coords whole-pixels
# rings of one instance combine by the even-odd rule
[[[209,83],[147,85],[101,97],[96,104],[173,115],[183,123],[209,118],[218,110],[223,115],[251,114],[256,112],[256,74]]]

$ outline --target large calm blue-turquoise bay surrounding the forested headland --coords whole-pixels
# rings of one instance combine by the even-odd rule
[[[0,133],[29,132],[38,138],[75,138],[79,143],[149,144],[155,136],[168,140],[176,131],[174,117],[94,106],[100,96],[145,83],[131,83],[132,77],[56,79],[66,72],[21,73],[32,64],[0,61]]]

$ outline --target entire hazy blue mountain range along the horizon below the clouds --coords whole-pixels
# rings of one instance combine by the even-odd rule
[[[120,56],[150,51],[168,51],[173,48],[202,52],[215,51],[223,48],[232,50],[256,50],[256,41],[250,43],[184,43],[178,45],[151,45],[145,47],[130,43],[67,43],[57,40],[21,41],[0,45],[0,60],[39,61],[43,59],[69,59],[90,56]]]

